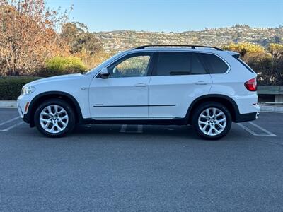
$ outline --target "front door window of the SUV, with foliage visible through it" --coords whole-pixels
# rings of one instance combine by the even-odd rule
[[[126,57],[108,67],[110,78],[147,76],[150,55]]]

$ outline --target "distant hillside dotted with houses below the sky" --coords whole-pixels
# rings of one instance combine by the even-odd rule
[[[99,32],[95,35],[102,41],[105,52],[115,53],[140,45],[193,44],[221,47],[230,42],[252,42],[266,46],[270,42],[283,42],[283,27],[250,28],[248,25],[235,25],[230,28],[206,28],[183,33],[120,30]]]

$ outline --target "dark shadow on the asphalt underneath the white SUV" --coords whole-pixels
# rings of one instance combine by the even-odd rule
[[[38,137],[42,137],[48,140],[54,141],[78,141],[89,140],[92,141],[163,141],[163,142],[178,142],[178,141],[203,141],[203,142],[226,142],[226,141],[238,141],[246,138],[246,132],[239,129],[237,126],[233,126],[229,134],[223,139],[216,141],[204,140],[197,136],[192,126],[175,126],[175,125],[143,125],[142,129],[138,129],[137,125],[127,125],[123,130],[121,124],[87,124],[77,125],[71,134],[58,139],[52,139],[43,136],[37,129],[34,129],[33,136],[35,134]],[[30,131],[30,129],[28,129]]]

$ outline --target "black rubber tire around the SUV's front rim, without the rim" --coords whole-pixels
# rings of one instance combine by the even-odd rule
[[[57,133],[50,133],[46,131],[45,129],[43,129],[43,127],[40,124],[40,113],[42,112],[42,110],[45,109],[45,107],[49,105],[59,105],[60,107],[64,108],[64,110],[68,114],[69,120],[67,122],[67,126],[65,126],[65,128],[62,131],[59,131]],[[34,122],[35,122],[36,128],[38,129],[38,131],[40,131],[40,133],[48,137],[58,138],[58,137],[65,136],[67,133],[71,132],[74,129],[74,126],[76,125],[76,116],[75,116],[73,108],[64,100],[50,99],[50,100],[46,100],[45,102],[42,102],[36,108]]]

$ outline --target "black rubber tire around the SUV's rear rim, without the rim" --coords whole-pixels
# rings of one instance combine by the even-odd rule
[[[224,127],[223,131],[221,131],[220,134],[217,134],[217,135],[214,135],[214,136],[204,134],[204,132],[202,131],[202,129],[200,129],[200,126],[198,124],[200,114],[204,110],[212,108],[212,107],[221,110],[225,114],[225,117],[226,117],[226,126]],[[229,110],[219,102],[204,102],[201,105],[199,105],[193,111],[193,114],[192,114],[192,126],[194,127],[197,134],[200,137],[202,137],[202,139],[207,139],[207,140],[221,139],[222,137],[226,136],[226,134],[228,134],[229,130],[231,129],[231,124],[232,124],[232,118],[231,118],[231,114],[230,114]]]

